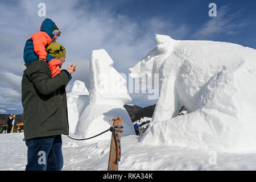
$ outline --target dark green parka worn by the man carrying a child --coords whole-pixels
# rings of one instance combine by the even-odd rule
[[[48,63],[25,64],[22,77],[22,105],[25,139],[68,134],[65,86],[71,75],[63,70],[52,77]]]

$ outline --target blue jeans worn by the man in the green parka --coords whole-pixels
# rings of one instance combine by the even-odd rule
[[[26,140],[26,171],[60,171],[63,167],[61,135]]]

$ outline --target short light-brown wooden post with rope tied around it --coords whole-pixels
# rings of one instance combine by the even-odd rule
[[[112,119],[112,121],[113,121],[113,126],[122,126],[123,118],[115,117]],[[118,137],[119,137],[119,140],[121,141],[121,133],[119,132],[118,132]],[[110,144],[108,171],[118,171],[118,163],[115,163],[117,158],[118,158],[117,138],[115,137],[115,133],[113,131],[111,144]]]

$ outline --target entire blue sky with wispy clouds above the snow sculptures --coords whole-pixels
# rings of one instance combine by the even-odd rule
[[[46,17],[38,16],[38,4],[46,3]],[[210,17],[209,3],[216,3],[217,17]],[[114,68],[128,73],[156,47],[155,34],[180,40],[214,40],[256,48],[256,2],[246,1],[1,1],[0,2],[0,113],[19,114],[20,82],[25,69],[23,48],[39,31],[44,18],[51,18],[60,30],[58,42],[67,49],[68,63],[77,64],[73,81],[89,89],[89,58],[94,49],[104,48]],[[147,106],[154,100],[133,96],[133,104]]]

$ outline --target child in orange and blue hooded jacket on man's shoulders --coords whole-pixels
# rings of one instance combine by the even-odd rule
[[[46,48],[57,40],[60,33],[59,28],[51,19],[44,19],[40,31],[31,35],[25,44],[23,54],[25,63],[36,60],[47,61],[52,71],[52,77],[60,73],[61,61],[46,52]]]

